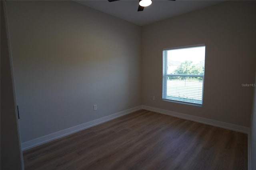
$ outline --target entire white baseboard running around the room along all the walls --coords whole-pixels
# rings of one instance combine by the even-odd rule
[[[220,128],[234,130],[234,131],[237,131],[237,132],[242,132],[242,133],[248,134],[248,140],[250,140],[249,139],[250,128],[245,127],[245,126],[239,126],[239,125],[236,125],[236,124],[220,122],[220,121],[217,121],[217,120],[201,118],[201,117],[198,117],[198,116],[192,116],[192,115],[188,115],[188,114],[173,112],[173,111],[170,111],[170,110],[164,110],[164,109],[154,108],[154,107],[150,107],[150,106],[136,106],[134,108],[130,108],[130,109],[124,110],[122,112],[111,114],[111,115],[105,116],[103,118],[92,120],[92,121],[86,122],[84,124],[73,126],[71,128],[60,130],[58,132],[54,132],[52,134],[48,134],[46,136],[42,136],[42,137],[30,140],[30,141],[24,142],[24,143],[21,144],[22,151],[28,150],[28,149],[33,148],[35,146],[39,146],[41,144],[50,142],[52,140],[67,136],[69,134],[78,132],[80,130],[84,130],[84,129],[90,128],[92,126],[96,126],[98,124],[107,122],[109,120],[118,118],[120,116],[130,114],[130,113],[135,112],[135,111],[140,110],[140,109],[145,109],[145,110],[149,110],[149,111],[153,111],[153,112],[157,112],[157,113],[161,113],[161,114],[166,114],[166,115],[169,115],[169,116],[174,116],[174,117],[178,117],[178,118],[182,118],[182,119],[186,119],[186,120],[191,120],[191,121],[194,121],[194,122],[200,122],[200,123],[203,123],[203,124],[208,124],[208,125],[212,125],[212,126],[216,126],[216,127],[220,127]],[[250,146],[248,146],[248,169],[249,169],[249,166],[250,166],[249,165],[249,149],[250,149],[249,147]]]

